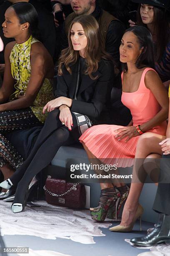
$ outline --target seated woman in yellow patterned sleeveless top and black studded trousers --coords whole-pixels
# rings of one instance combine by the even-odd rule
[[[0,170],[9,178],[23,163],[5,133],[43,125],[45,104],[52,100],[53,61],[37,40],[37,12],[30,3],[16,3],[5,12],[4,36],[15,38],[5,48],[0,88]],[[1,193],[2,194],[2,193]]]

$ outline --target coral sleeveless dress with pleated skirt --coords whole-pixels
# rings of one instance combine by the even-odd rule
[[[143,71],[140,85],[135,92],[122,92],[122,103],[130,109],[133,117],[133,125],[142,125],[152,119],[159,111],[160,105],[153,93],[145,86],[145,74],[151,68]],[[154,70],[155,71],[155,70]],[[123,73],[122,73],[123,80]],[[95,125],[87,129],[79,138],[84,142],[90,152],[105,164],[117,164],[117,167],[132,166],[135,158],[136,145],[140,136],[131,138],[125,143],[127,138],[117,141],[115,132],[124,126],[120,125]],[[164,121],[160,125],[148,130],[148,132],[165,135],[167,123]]]

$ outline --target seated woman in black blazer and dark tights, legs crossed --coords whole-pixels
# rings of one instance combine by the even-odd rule
[[[62,51],[59,61],[56,98],[43,109],[50,112],[45,125],[28,159],[0,184],[6,189],[17,187],[13,212],[24,209],[31,179],[50,164],[60,146],[78,141],[81,133],[100,118],[110,95],[114,67],[100,49],[98,29],[91,15],[75,18],[70,26],[69,47]]]

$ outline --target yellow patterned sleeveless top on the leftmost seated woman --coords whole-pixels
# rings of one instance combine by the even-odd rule
[[[35,42],[39,41],[30,36],[30,38],[23,44],[15,44],[10,53],[11,73],[16,80],[14,85],[15,92],[10,96],[10,101],[15,100],[20,94],[25,94],[27,90],[31,75],[30,50],[31,45]],[[44,123],[47,117],[47,114],[44,115],[42,113],[42,109],[46,103],[52,99],[52,84],[49,79],[45,78],[33,105],[30,106],[31,110],[41,123]]]

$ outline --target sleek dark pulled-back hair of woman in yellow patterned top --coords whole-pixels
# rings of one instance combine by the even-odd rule
[[[29,32],[33,37],[39,39],[40,34],[38,30],[38,14],[34,6],[27,2],[20,2],[11,5],[11,8],[14,9],[20,24],[28,22],[30,24]]]

